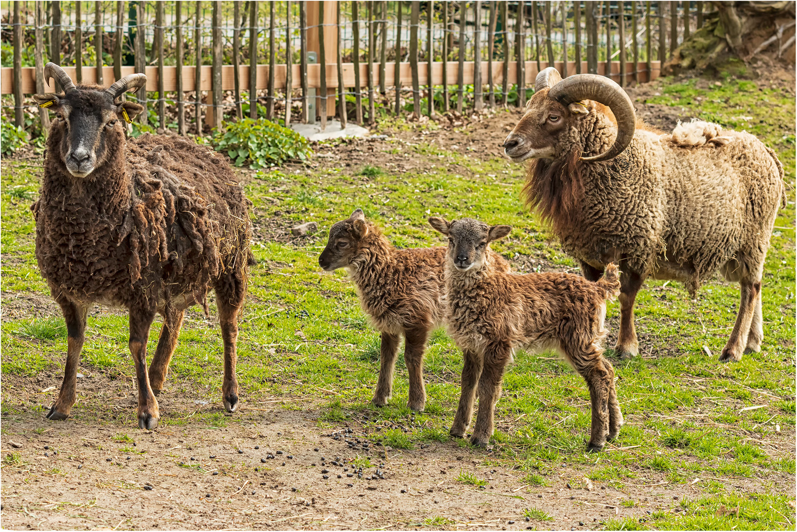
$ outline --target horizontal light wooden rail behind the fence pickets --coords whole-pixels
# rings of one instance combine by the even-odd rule
[[[457,61],[449,61],[448,68],[446,69],[447,77],[446,80],[450,85],[457,84]],[[493,61],[493,83],[495,85],[501,85],[504,78],[502,75],[503,72],[503,61]],[[543,66],[546,66],[547,63],[544,62]],[[517,68],[516,68],[516,61],[509,61],[509,68],[508,68],[508,83],[514,84],[517,81]],[[556,61],[554,64],[559,72],[563,71],[563,62]],[[412,84],[412,70],[410,67],[410,63],[399,63],[399,76],[401,78],[402,87],[408,88],[411,87]],[[482,65],[484,68],[484,65]],[[194,72],[196,67],[186,65],[183,67],[183,91],[193,91],[195,88],[194,82]],[[300,65],[292,65],[293,69],[293,79],[299,80],[300,79]],[[310,88],[320,88],[320,65],[307,65],[308,69],[308,86]],[[352,63],[344,63],[344,87],[354,87],[355,85],[355,75],[354,75],[354,65]],[[366,86],[365,81],[367,80],[367,72],[368,72],[368,65],[367,63],[363,63],[359,65],[360,69],[360,83],[363,87]],[[379,65],[375,64],[373,66],[374,76],[379,76]],[[75,67],[64,67],[66,73],[69,76],[76,80],[75,76]],[[156,66],[148,66],[147,70],[147,91],[155,92],[158,90],[158,67]],[[286,74],[286,67],[285,65],[274,65],[274,85],[275,88],[285,88],[285,74]],[[637,64],[637,67],[634,68],[633,62],[626,63],[626,72],[639,72],[639,81],[651,81],[658,78],[659,73],[661,72],[661,63],[659,61],[651,61],[651,72],[649,76],[649,72],[647,72],[647,67],[645,61],[640,61]],[[135,72],[134,67],[132,66],[123,66],[122,67],[122,76],[127,76],[128,74],[132,74]],[[395,87],[395,64],[394,63],[387,63],[386,68],[384,69],[385,72],[385,84],[387,87]],[[536,61],[526,61],[525,62],[525,84],[526,86],[533,86],[534,85],[534,78],[537,75],[537,65]],[[568,61],[567,62],[567,72],[575,72],[575,61]],[[582,61],[581,63],[581,72],[587,72],[587,61]],[[606,63],[601,62],[598,65],[598,73],[603,75],[606,72]],[[620,62],[619,61],[612,61],[611,65],[611,72],[612,78],[614,80],[619,79],[620,73]],[[96,68],[89,67],[83,68],[83,83],[96,83]],[[211,90],[211,78],[212,67],[210,65],[203,65],[202,66],[202,83],[200,84],[200,88],[203,91],[210,91]],[[330,64],[327,65],[327,87],[328,88],[336,88],[338,86],[338,73],[337,73],[337,65]],[[464,83],[465,84],[473,84],[473,61],[465,61],[465,72],[464,72]],[[238,75],[239,79],[241,80],[248,80],[249,79],[249,65],[241,65],[238,67]],[[103,67],[103,81],[104,86],[110,86],[114,81],[113,75],[113,67],[112,66],[105,66]],[[269,81],[269,66],[268,65],[257,65],[257,88],[267,88]],[[49,86],[49,80],[45,80],[45,90],[47,92],[53,92],[53,88]],[[426,74],[426,63],[418,63],[418,83],[421,85],[428,85],[429,80]],[[443,64],[442,62],[435,62],[432,63],[432,84],[434,85],[442,85],[443,83]],[[233,90],[235,88],[234,84],[234,67],[233,65],[224,65],[222,66],[222,89],[223,90]],[[299,88],[298,83],[294,86],[294,88]],[[175,66],[164,66],[163,67],[163,89],[167,92],[174,92],[177,90],[177,77],[176,77],[176,67]],[[14,68],[12,67],[5,67],[2,68],[2,76],[0,76],[0,94],[11,94],[14,92]],[[23,94],[33,94],[36,92],[36,68],[33,67],[26,67],[22,68],[22,93]]]

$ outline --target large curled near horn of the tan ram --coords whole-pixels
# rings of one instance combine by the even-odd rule
[[[563,105],[581,100],[595,100],[606,105],[614,113],[614,119],[617,120],[617,138],[614,139],[614,144],[600,155],[582,157],[581,160],[605,161],[617,157],[631,143],[636,127],[634,104],[626,92],[609,78],[595,74],[570,76],[551,88],[548,96]]]

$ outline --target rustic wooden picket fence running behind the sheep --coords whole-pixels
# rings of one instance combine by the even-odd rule
[[[45,61],[105,86],[146,72],[139,102],[181,134],[241,118],[247,105],[249,116],[286,125],[316,114],[322,125],[335,115],[372,122],[377,107],[430,115],[524,105],[549,65],[622,85],[655,79],[679,42],[716,16],[710,3],[0,2],[14,48],[0,93],[14,94],[22,125],[33,107],[26,95],[56,89],[43,79]]]

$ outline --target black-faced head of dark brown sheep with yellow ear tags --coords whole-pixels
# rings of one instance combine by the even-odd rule
[[[124,150],[123,111],[133,118],[143,107],[116,104],[100,87],[78,87],[63,96],[37,94],[34,100],[53,111],[51,133],[60,132],[59,156],[69,173],[85,178],[108,162],[112,151]],[[49,102],[49,103],[48,103]]]

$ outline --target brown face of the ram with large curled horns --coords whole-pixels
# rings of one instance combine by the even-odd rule
[[[526,112],[504,142],[504,152],[512,162],[528,158],[558,158],[569,151],[568,132],[575,120],[589,113],[581,103],[565,107],[548,98],[548,90],[535,92]]]

